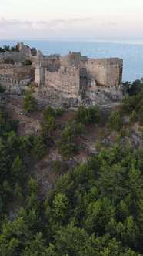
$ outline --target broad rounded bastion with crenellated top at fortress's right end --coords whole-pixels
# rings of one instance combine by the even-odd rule
[[[121,84],[122,59],[88,59],[85,69],[87,70],[87,79],[95,79],[98,85]]]

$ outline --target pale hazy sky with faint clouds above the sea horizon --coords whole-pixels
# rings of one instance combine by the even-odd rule
[[[3,0],[0,39],[142,37],[143,0]]]

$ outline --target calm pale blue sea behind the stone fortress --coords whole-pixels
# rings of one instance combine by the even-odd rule
[[[58,53],[61,56],[81,52],[89,58],[123,59],[123,82],[133,82],[143,77],[143,38],[141,39],[0,39],[0,47],[23,42],[41,50],[43,55]]]

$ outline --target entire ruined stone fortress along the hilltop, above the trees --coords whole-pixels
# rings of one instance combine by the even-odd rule
[[[5,59],[14,64],[5,64]],[[0,84],[8,93],[21,94],[31,82],[38,99],[52,97],[68,106],[118,103],[124,96],[122,69],[119,58],[89,59],[80,52],[44,56],[22,42],[15,51],[0,53]]]

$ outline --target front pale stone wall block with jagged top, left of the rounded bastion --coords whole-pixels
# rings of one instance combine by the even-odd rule
[[[63,68],[58,72],[49,72],[45,69],[45,86],[55,88],[66,96],[78,97],[80,89],[80,74],[76,67]]]

